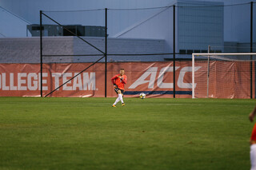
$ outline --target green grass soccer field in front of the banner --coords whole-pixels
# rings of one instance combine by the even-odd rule
[[[255,100],[0,97],[0,169],[250,169]]]

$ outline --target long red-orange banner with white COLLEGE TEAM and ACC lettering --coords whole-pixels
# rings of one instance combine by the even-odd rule
[[[96,63],[85,72],[83,69],[92,63],[43,64],[42,92],[43,96],[50,93],[68,81],[74,79],[51,93],[49,97],[104,97],[105,96],[105,63]],[[211,63],[217,68],[218,62]],[[210,97],[248,98],[248,73],[230,76],[230,69],[242,69],[242,65],[222,65],[226,68],[222,72],[214,71],[215,78],[228,78],[231,82],[242,80],[238,87],[232,83],[224,83],[221,87],[228,87],[226,93],[219,93],[219,82],[210,77]],[[110,79],[125,69],[127,84],[126,97],[138,97],[139,93],[146,93],[147,97],[173,97],[173,62],[118,62],[107,64],[107,97],[116,97],[114,86]],[[191,61],[176,61],[175,66],[176,97],[191,97],[192,94],[192,67]],[[206,94],[206,65],[200,63],[195,68],[196,97],[205,97]],[[41,90],[40,64],[0,64],[0,96],[1,97],[40,97]],[[199,80],[198,77],[201,77]],[[232,84],[232,85],[231,85]],[[222,88],[223,89],[223,88]],[[239,93],[233,93],[239,92]],[[250,89],[249,89],[250,90]]]

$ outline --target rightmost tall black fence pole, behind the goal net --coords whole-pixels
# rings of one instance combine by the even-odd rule
[[[250,2],[250,53],[253,52],[253,9],[254,2]],[[250,56],[250,98],[253,98],[253,56]]]

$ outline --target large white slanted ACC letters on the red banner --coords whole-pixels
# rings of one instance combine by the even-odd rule
[[[175,70],[179,69],[180,66],[176,66]],[[201,66],[194,67],[194,71],[197,71],[200,69]],[[174,88],[174,83],[164,83],[162,82],[163,76],[166,72],[173,72],[174,67],[173,66],[168,66],[168,67],[163,67],[160,70],[160,73],[158,75],[158,82],[157,85],[160,89],[172,89]],[[157,76],[157,71],[158,67],[150,67],[150,69],[147,69],[145,73],[142,74],[141,77],[138,78],[137,81],[135,81],[132,85],[130,85],[129,89],[135,89],[138,87],[138,85],[142,85],[145,83],[149,83],[148,89],[154,89],[154,81],[155,77]],[[192,72],[192,67],[183,67],[180,70],[179,76],[178,76],[178,81],[177,85],[179,88],[182,89],[192,89],[192,83],[184,83],[184,76],[187,72]],[[146,77],[150,76],[150,80],[145,80]],[[196,84],[195,84],[196,86]]]

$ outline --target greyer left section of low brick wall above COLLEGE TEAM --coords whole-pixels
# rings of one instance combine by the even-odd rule
[[[43,38],[43,54],[72,54],[73,38]],[[72,58],[44,58],[44,61],[72,61]],[[40,38],[0,38],[1,63],[39,63]]]

